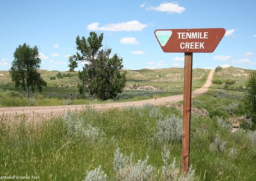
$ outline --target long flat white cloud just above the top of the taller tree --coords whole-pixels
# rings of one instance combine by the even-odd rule
[[[141,24],[137,20],[130,22],[122,22],[118,24],[107,24],[99,27],[98,22],[93,22],[87,26],[88,30],[100,30],[100,31],[141,31],[143,28],[147,27],[146,24]]]

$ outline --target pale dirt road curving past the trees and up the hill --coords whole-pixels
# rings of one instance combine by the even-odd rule
[[[207,81],[200,88],[192,92],[192,97],[204,94],[208,91],[211,86],[211,80],[213,78],[214,70],[211,70]],[[169,96],[164,98],[147,99],[143,101],[131,101],[122,103],[106,103],[106,104],[95,104],[95,105],[69,105],[69,106],[36,106],[36,107],[10,107],[10,108],[0,108],[1,115],[8,115],[8,117],[14,117],[17,115],[26,115],[29,120],[35,119],[51,119],[52,117],[58,117],[63,113],[70,111],[79,111],[84,108],[95,108],[95,109],[108,109],[108,108],[122,108],[127,106],[143,106],[145,104],[152,105],[170,105],[172,103],[177,103],[183,100],[183,94],[176,96]]]

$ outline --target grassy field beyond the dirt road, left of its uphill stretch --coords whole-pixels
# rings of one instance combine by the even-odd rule
[[[118,94],[114,101],[137,101],[141,99],[157,98],[182,94],[183,69],[141,69],[138,71],[127,70],[127,87],[122,94]],[[77,73],[44,71],[40,70],[42,78],[47,82],[43,92],[34,92],[31,98],[25,98],[23,90],[17,90],[8,71],[0,71],[0,106],[51,106],[51,105],[83,105],[103,103],[87,95],[80,99],[77,92],[79,79]],[[58,78],[58,73],[65,75]],[[69,74],[69,75],[68,75]],[[209,74],[209,69],[193,70],[193,90],[204,85]],[[68,76],[67,76],[68,75]],[[72,94],[72,101],[69,99]]]

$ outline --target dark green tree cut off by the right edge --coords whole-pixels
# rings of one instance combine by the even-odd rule
[[[246,82],[247,92],[245,106],[248,118],[252,119],[253,127],[256,128],[256,71],[252,71]]]

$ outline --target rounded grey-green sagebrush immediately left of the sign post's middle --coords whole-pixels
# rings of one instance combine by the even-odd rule
[[[159,120],[155,134],[156,141],[159,143],[173,143],[181,141],[182,136],[182,119],[179,117],[166,118]]]

